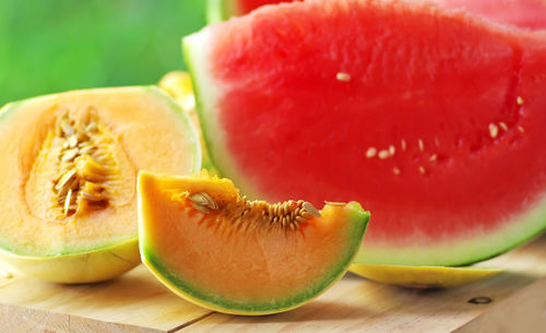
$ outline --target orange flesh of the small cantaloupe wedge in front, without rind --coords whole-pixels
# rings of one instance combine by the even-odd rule
[[[342,225],[347,214],[341,206],[327,205],[322,217],[293,230],[258,218],[236,223],[222,203],[203,213],[189,200],[177,200],[173,185],[144,173],[139,181],[145,192],[141,249],[144,243],[144,251],[161,258],[168,272],[159,274],[175,274],[190,289],[240,304],[280,300],[323,283],[346,257],[352,228]],[[238,195],[224,183],[178,191],[205,191],[216,202]]]

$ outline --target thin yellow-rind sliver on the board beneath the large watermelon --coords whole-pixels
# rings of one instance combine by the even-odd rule
[[[485,267],[353,264],[351,272],[366,278],[410,288],[449,288],[492,277],[502,270]]]

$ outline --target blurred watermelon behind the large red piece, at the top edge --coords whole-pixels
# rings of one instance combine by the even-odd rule
[[[294,0],[292,0],[294,1]],[[234,15],[244,15],[254,9],[290,0],[209,0],[209,22],[224,21]],[[408,0],[422,1],[422,0]],[[501,23],[521,27],[546,28],[545,0],[428,0],[444,8],[465,9]]]

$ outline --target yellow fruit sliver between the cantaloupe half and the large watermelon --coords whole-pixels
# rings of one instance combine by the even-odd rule
[[[191,79],[187,72],[173,71],[165,76],[158,83],[159,87],[164,90],[167,94],[175,97],[175,99],[180,104],[182,109],[188,114],[193,126],[198,130],[199,139],[201,143],[201,153],[203,156],[202,167],[205,168],[210,174],[218,175],[218,170],[212,164],[209,157],[209,151],[201,133],[201,126],[199,123],[198,112],[195,111],[195,98],[193,96],[193,87],[191,86]]]

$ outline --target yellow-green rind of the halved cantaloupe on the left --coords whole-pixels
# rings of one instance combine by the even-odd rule
[[[135,88],[141,88],[144,93],[163,99],[170,110],[180,116],[186,130],[193,138],[192,154],[195,158],[192,171],[200,170],[201,148],[199,134],[186,112],[182,111],[173,98],[155,86],[139,86]],[[0,121],[7,121],[8,117],[24,103],[35,100],[36,98],[47,98],[48,96],[7,104],[0,109]],[[21,253],[8,241],[0,238],[0,259],[28,275],[50,282],[68,284],[109,280],[133,269],[141,262],[136,235],[119,239],[97,240],[92,246],[64,248],[56,254],[47,255]]]

